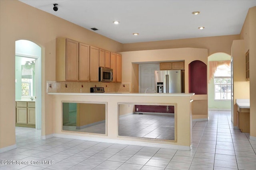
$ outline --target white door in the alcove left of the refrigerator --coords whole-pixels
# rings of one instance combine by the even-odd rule
[[[160,64],[139,64],[139,92],[154,93],[155,89],[155,70],[160,70]],[[153,89],[152,89],[153,88]]]

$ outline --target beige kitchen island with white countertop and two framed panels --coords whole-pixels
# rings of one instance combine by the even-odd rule
[[[192,113],[191,96],[194,93],[48,93],[53,95],[52,112],[54,122],[54,137],[67,137],[89,141],[120,143],[128,145],[142,145],[148,147],[162,147],[168,149],[190,150],[192,143]],[[79,104],[105,104],[106,133],[86,133],[66,131],[62,129],[62,104],[73,102]],[[164,105],[174,106],[175,139],[152,139],[142,137],[121,136],[118,134],[118,120],[120,106],[127,105]],[[93,113],[92,113],[93,114]]]

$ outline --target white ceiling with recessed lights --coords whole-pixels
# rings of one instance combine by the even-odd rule
[[[20,1],[91,31],[96,27],[94,32],[120,43],[240,34],[248,9],[256,6],[256,0]]]

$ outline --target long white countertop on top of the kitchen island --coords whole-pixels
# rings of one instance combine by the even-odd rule
[[[94,96],[193,96],[194,93],[129,93],[129,92],[106,92],[106,93],[48,93],[51,95],[94,95]]]

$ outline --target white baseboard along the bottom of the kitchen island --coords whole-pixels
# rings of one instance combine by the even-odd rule
[[[158,148],[165,148],[165,149],[191,150],[190,147],[181,146],[181,145],[169,145],[169,144],[137,142],[137,141],[124,141],[124,140],[118,140],[118,139],[103,139],[103,138],[95,138],[95,137],[82,137],[82,136],[64,135],[64,134],[58,134],[58,133],[54,133],[54,137],[79,139],[79,140],[86,140],[86,141],[96,141],[96,142],[106,142],[106,143],[117,143],[117,144],[125,144],[125,145],[138,145],[138,146],[143,146],[143,147],[158,147]]]

